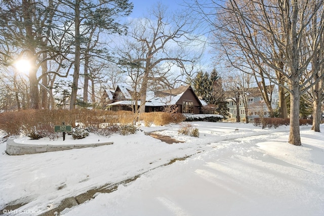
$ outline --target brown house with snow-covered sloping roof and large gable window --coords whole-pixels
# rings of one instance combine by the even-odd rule
[[[139,94],[124,86],[117,86],[111,103],[106,104],[109,110],[135,110]],[[137,101],[139,106],[140,101]],[[178,113],[199,114],[206,103],[200,100],[190,85],[164,91],[147,92],[145,112],[160,112],[172,109]]]

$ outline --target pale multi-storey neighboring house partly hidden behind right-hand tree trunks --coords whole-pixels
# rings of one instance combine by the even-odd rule
[[[269,90],[270,86],[267,86],[267,89]],[[271,98],[271,107],[272,109],[276,109],[278,106],[278,100],[279,100],[279,95],[278,95],[278,90],[275,85],[271,85],[272,92],[270,94],[270,91],[268,93],[269,98]],[[250,90],[252,93],[249,93],[251,97],[248,97],[248,116],[249,116],[249,121],[253,122],[254,118],[258,118],[261,116],[264,117],[269,117],[269,110],[263,100],[263,97],[261,95],[261,92],[258,87],[251,88]],[[271,95],[271,96],[270,96]],[[237,116],[237,111],[236,111],[236,103],[231,99],[227,98],[227,109],[229,112],[229,118],[236,118]],[[245,106],[242,100],[242,97],[240,97],[239,100],[239,117],[240,119],[245,119],[246,118],[246,110]]]

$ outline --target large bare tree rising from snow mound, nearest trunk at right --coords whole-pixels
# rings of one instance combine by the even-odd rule
[[[304,77],[314,54],[320,52],[324,30],[323,2],[315,0],[228,0],[222,4],[213,2],[210,6],[216,8],[217,13],[205,13],[205,17],[213,21],[211,24],[217,31],[223,32],[223,42],[230,40],[227,43],[238,45],[235,46],[239,48],[236,53],[248,54],[253,59],[253,63],[258,65],[271,82],[282,85],[277,81],[278,76],[275,76],[275,73],[278,73],[281,81],[287,83],[282,87],[290,93],[289,143],[300,146],[300,98],[308,88],[322,78],[319,77],[311,83],[314,81],[315,74]],[[308,31],[313,28],[311,21],[314,16],[320,19],[315,25],[317,28],[313,36],[315,40],[311,40],[307,35]],[[240,46],[242,44],[244,46]],[[312,50],[305,49],[308,44],[312,44]],[[271,47],[274,47],[276,53],[282,56],[273,55]],[[322,63],[322,61],[319,62],[319,65]],[[264,69],[264,65],[272,69],[271,73]]]

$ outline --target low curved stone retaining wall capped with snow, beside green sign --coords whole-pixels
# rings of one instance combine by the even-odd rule
[[[56,152],[70,149],[82,149],[89,147],[98,147],[111,145],[113,142],[102,142],[96,144],[75,144],[75,145],[29,145],[16,143],[14,139],[7,140],[6,153],[8,155],[25,155],[25,154],[36,154],[44,152]]]

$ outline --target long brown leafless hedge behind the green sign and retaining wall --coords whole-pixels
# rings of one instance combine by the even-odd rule
[[[21,110],[0,114],[0,130],[7,136],[25,134],[32,139],[50,137],[55,139],[60,133],[54,132],[55,125],[75,123],[90,132],[109,135],[120,132],[123,125],[133,125],[138,115],[130,111],[104,111],[76,109],[69,110]],[[144,113],[140,120],[148,124],[166,125],[185,120],[182,114],[165,112]],[[146,124],[145,123],[145,124]]]

